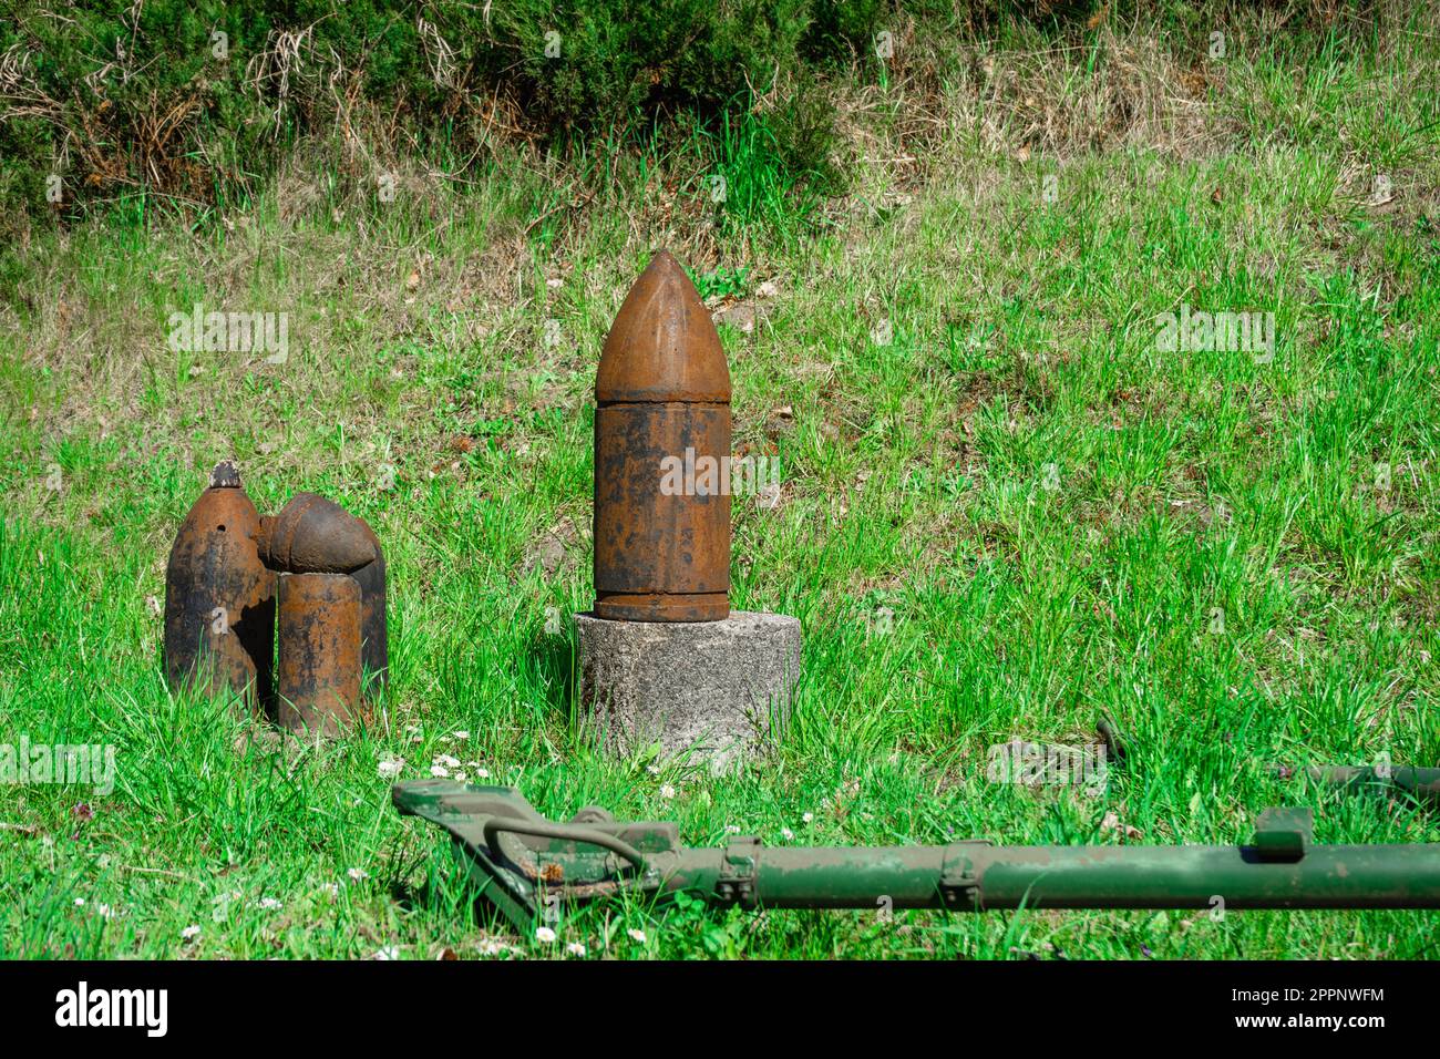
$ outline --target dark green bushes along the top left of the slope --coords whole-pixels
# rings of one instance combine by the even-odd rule
[[[848,56],[881,0],[16,0],[0,22],[0,206],[76,216],[144,190],[243,197],[301,137],[363,122],[367,143],[474,156],[492,101],[553,147],[720,128],[733,104],[805,81],[775,115],[778,164],[834,183],[832,121],[808,69]],[[223,35],[223,37],[217,36]],[[795,169],[799,166],[799,169]],[[46,200],[48,177],[63,199]]]

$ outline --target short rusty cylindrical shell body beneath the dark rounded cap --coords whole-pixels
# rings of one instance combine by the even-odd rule
[[[279,579],[276,719],[338,735],[360,706],[360,582],[348,573]]]

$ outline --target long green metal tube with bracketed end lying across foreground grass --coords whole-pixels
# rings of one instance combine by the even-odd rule
[[[683,890],[743,908],[1440,908],[1440,844],[1316,846],[1309,810],[1266,810],[1244,846],[688,849],[672,823],[600,808],[552,823],[510,787],[415,779],[392,798],[449,833],[480,895],[520,929],[552,895]]]

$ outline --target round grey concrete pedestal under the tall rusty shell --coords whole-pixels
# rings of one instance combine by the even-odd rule
[[[654,743],[724,772],[778,735],[801,669],[801,622],[732,611],[724,621],[608,621],[576,614],[580,696],[616,756]]]

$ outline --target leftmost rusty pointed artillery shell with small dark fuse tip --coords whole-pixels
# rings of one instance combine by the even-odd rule
[[[261,519],[235,464],[186,516],[166,566],[166,677],[209,692],[229,689],[251,705],[271,696],[275,575],[259,556]]]

